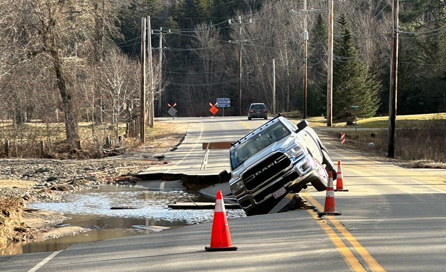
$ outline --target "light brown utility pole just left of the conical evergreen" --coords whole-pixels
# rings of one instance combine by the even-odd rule
[[[333,121],[333,0],[329,0],[329,42],[327,57],[327,126],[332,126]]]

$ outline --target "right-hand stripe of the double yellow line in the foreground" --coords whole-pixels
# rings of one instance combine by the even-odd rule
[[[311,197],[308,193],[303,193],[301,196],[304,196],[306,199],[308,199],[307,202],[309,202],[311,205],[318,208],[320,211],[324,210],[324,207],[322,204],[320,204],[316,199]],[[353,246],[353,248],[358,252],[359,255],[364,259],[364,261],[367,263],[367,265],[370,267],[372,272],[386,272],[384,268],[375,260],[375,258],[370,255],[370,253],[356,240],[356,238],[344,227],[340,222],[335,219],[334,216],[327,216],[327,220],[333,223],[335,228],[347,239],[347,241]],[[345,256],[345,255],[344,255]]]

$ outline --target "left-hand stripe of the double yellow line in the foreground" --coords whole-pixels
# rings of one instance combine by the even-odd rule
[[[320,220],[315,211],[313,210],[307,210],[307,211],[316,220],[316,222],[319,223],[319,225],[321,225],[322,229],[325,230],[325,232],[333,241],[339,252],[342,254],[342,256],[344,256],[345,260],[348,262],[351,269],[354,272],[366,272],[366,270],[359,263],[358,259],[355,258],[353,253],[351,253],[350,249],[348,249],[348,247],[344,244],[344,242],[342,242],[339,236],[337,236],[332,227],[327,225],[324,220]]]

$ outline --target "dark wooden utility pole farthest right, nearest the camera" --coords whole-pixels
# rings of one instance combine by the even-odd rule
[[[392,44],[390,61],[390,98],[389,98],[389,157],[395,156],[396,91],[398,72],[398,0],[392,3]]]

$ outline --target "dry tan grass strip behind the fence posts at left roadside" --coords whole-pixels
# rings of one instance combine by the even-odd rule
[[[106,137],[114,139],[115,131],[111,124],[96,124],[95,137],[92,124],[88,122],[78,123],[79,139],[82,142],[82,150],[73,152],[73,148],[64,143],[64,123],[42,123],[33,120],[20,126],[13,126],[10,120],[2,120],[0,123],[0,138],[10,142],[9,156],[22,158],[35,158],[40,156],[40,141],[45,142],[46,156],[55,158],[89,158],[100,156],[100,148],[106,142]],[[124,136],[126,123],[119,123],[119,136]],[[155,122],[154,128],[146,128],[146,145],[164,137],[184,135],[187,124]],[[180,137],[181,137],[180,136]],[[137,138],[124,138],[124,146],[127,148],[139,145]],[[0,144],[0,157],[6,156],[3,142]],[[112,147],[111,147],[112,148]]]

